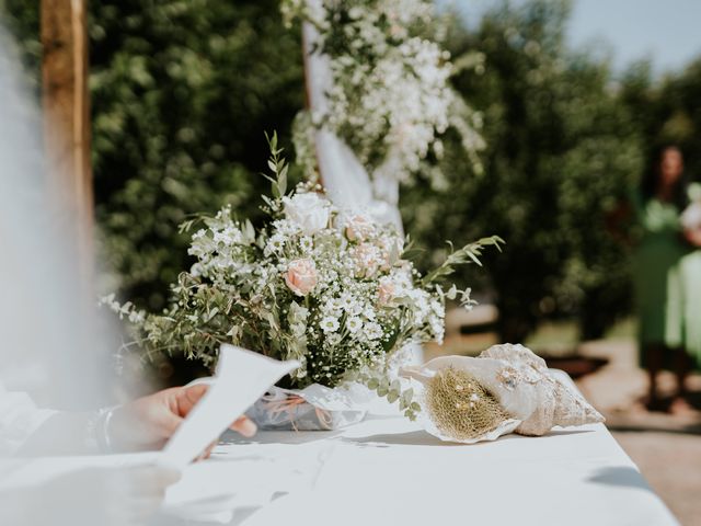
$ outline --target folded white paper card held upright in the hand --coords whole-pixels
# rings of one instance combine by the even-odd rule
[[[277,362],[222,345],[217,375],[207,393],[168,442],[159,460],[179,468],[189,464],[272,385],[297,367],[296,361]]]

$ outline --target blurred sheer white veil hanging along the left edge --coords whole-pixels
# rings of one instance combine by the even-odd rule
[[[89,409],[104,402],[110,367],[66,242],[72,226],[47,193],[31,93],[0,27],[0,382],[42,405]]]

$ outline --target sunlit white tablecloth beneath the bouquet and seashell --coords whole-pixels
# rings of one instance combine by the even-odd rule
[[[31,483],[153,458],[38,459],[13,473]],[[467,446],[397,416],[341,432],[226,435],[210,460],[186,469],[165,507],[158,526],[198,525],[205,516],[245,526],[677,524],[601,424]]]

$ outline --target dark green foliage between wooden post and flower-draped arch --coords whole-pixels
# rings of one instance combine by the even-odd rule
[[[38,5],[3,5],[35,72]],[[93,0],[89,14],[105,287],[159,309],[189,263],[179,224],[223,204],[262,217],[263,132],[289,145],[303,105],[300,37],[276,0]]]

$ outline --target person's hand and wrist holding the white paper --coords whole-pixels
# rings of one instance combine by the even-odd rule
[[[139,398],[114,410],[107,433],[117,449],[160,449],[175,433],[208,386],[174,387]],[[241,416],[231,430],[253,436],[255,424]],[[209,456],[211,444],[200,458]]]

